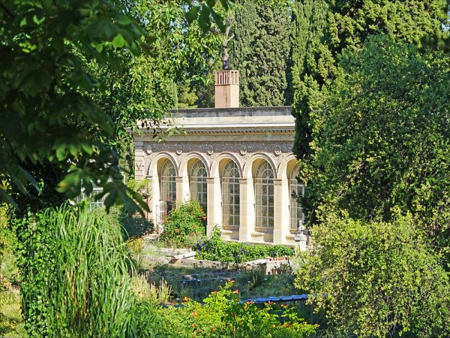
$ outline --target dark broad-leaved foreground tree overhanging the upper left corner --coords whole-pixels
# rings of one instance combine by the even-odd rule
[[[228,8],[228,1],[221,3]],[[186,1],[179,8],[188,22],[198,19],[203,30],[210,28],[211,16],[223,28],[210,1],[198,6]],[[107,207],[123,203],[129,211],[147,208],[123,183],[117,152],[107,142],[114,136],[116,124],[91,96],[105,87],[84,62],[95,61],[119,70],[121,60],[116,50],[130,51],[132,62],[141,60],[136,59],[141,57],[141,47],[159,50],[154,35],[163,35],[164,26],[152,26],[149,34],[124,14],[125,9],[106,0],[14,0],[1,4],[0,173],[11,179],[21,195],[28,195],[30,185],[40,191],[24,163],[40,166],[48,161],[64,173],[57,190],[69,197],[78,195],[82,186],[89,193],[96,184],[104,188],[98,197],[106,195]],[[148,61],[146,70],[151,72],[164,69],[157,65],[167,60]],[[163,73],[157,77],[163,78]],[[138,80],[146,83],[149,79]],[[139,82],[134,84],[138,87]],[[158,86],[145,88],[156,94],[152,100],[167,91]],[[150,117],[147,122],[158,125],[165,106],[154,102],[145,109]],[[0,198],[17,206],[4,190],[0,190]]]

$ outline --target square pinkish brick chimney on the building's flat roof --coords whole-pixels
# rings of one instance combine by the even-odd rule
[[[239,107],[239,71],[215,71],[215,108]]]

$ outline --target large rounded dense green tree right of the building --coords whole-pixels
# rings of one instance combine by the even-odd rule
[[[346,53],[314,119],[314,156],[303,161],[307,199],[350,217],[420,217],[448,247],[450,57],[388,36]]]

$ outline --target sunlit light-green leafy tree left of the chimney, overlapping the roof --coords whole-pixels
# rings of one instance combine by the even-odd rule
[[[89,68],[104,84],[93,98],[114,121],[114,133],[105,141],[116,148],[119,166],[129,178],[134,175],[134,145],[127,128],[137,127],[136,121],[144,118],[157,127],[168,109],[194,105],[197,98],[190,98],[187,90],[210,71],[210,59],[219,54],[220,34],[204,32],[197,21],[189,23],[179,1],[123,1],[123,6],[143,27],[152,47],[138,56],[116,51],[119,69],[98,62],[90,62]]]

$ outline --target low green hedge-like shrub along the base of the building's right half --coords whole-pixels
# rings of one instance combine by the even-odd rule
[[[294,256],[294,249],[285,245],[224,242],[220,235],[219,229],[215,228],[208,240],[198,242],[195,245],[196,258],[219,260],[222,263],[244,263],[267,257]]]

